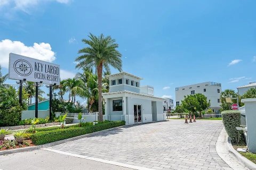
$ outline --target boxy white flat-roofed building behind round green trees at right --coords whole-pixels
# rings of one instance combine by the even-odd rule
[[[176,105],[180,105],[181,101],[187,95],[203,94],[210,100],[213,112],[219,111],[220,109],[220,93],[221,83],[215,82],[203,82],[198,84],[192,84],[189,86],[177,87],[175,89]]]

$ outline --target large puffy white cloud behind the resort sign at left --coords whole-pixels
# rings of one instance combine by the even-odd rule
[[[34,43],[33,46],[26,46],[20,41],[12,41],[10,39],[0,41],[0,65],[5,68],[8,68],[9,53],[24,55],[46,62],[55,60],[55,53],[48,43]]]

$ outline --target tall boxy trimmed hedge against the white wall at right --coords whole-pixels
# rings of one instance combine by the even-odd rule
[[[241,113],[239,111],[223,111],[222,121],[225,126],[225,129],[228,133],[231,142],[237,143],[239,142],[239,131],[236,130],[236,127],[240,127],[241,125]]]

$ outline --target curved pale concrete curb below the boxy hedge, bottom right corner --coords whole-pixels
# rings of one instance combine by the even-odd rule
[[[243,163],[247,168],[256,170],[256,164],[254,164],[249,159],[247,159],[244,156],[242,156],[241,154],[239,154],[239,152],[237,152],[233,148],[229,137],[228,137],[228,141],[227,141],[226,146],[227,146],[228,151],[231,152],[232,154],[234,154],[236,156],[236,158],[239,160],[239,162]]]

